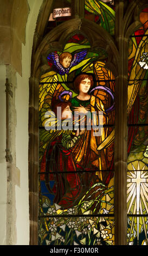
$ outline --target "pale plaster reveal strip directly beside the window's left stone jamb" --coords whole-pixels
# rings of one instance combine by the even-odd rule
[[[17,74],[16,88],[16,166],[20,170],[20,186],[16,185],[16,245],[29,245],[28,184],[28,107],[31,52],[37,16],[43,0],[28,0],[25,45],[22,44],[22,77]],[[1,218],[0,218],[1,219]]]

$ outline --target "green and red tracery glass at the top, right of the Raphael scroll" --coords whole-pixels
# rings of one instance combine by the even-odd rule
[[[114,35],[114,1],[85,0],[85,19],[99,24],[108,33]]]

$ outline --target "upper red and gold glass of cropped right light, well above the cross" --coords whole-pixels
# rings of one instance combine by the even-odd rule
[[[130,36],[128,47],[128,124],[147,124],[148,9],[141,11],[141,26]]]

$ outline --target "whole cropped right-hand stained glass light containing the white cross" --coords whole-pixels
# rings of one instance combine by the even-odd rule
[[[131,35],[128,51],[128,245],[147,245],[148,8],[139,20],[142,26]]]

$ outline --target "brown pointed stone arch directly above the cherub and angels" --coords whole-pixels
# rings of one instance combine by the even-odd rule
[[[114,66],[115,74],[118,74],[119,53],[110,34],[104,28],[86,19],[72,19],[63,22],[43,38],[33,57],[31,76],[39,79],[41,72],[38,69],[40,70],[41,66],[47,64],[42,62],[43,59],[46,62],[44,57],[47,53],[57,49],[62,50],[68,38],[76,33],[81,33],[88,39],[92,50],[96,47],[104,48],[108,53],[107,65]]]

